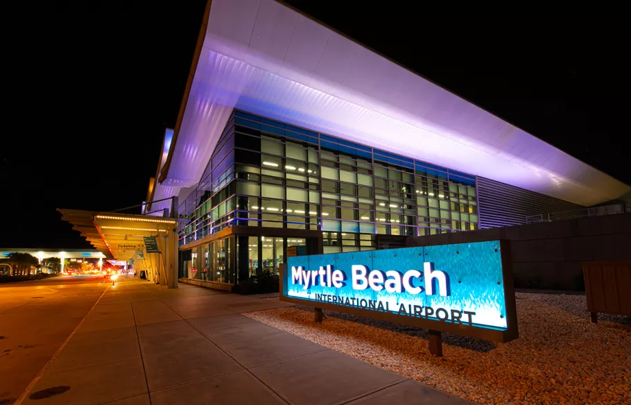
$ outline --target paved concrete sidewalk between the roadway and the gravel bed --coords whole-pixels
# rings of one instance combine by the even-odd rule
[[[240,315],[285,306],[123,279],[24,404],[468,404]]]

